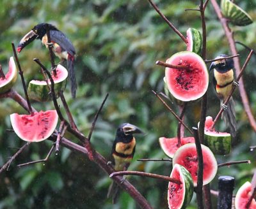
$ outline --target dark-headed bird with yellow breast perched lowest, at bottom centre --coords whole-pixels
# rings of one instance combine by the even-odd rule
[[[131,164],[135,152],[136,140],[133,134],[142,134],[140,128],[129,123],[120,124],[116,130],[111,155],[114,159],[113,165],[116,171],[126,171]],[[108,189],[107,198],[112,197],[115,204],[118,196],[118,185],[112,182]]]

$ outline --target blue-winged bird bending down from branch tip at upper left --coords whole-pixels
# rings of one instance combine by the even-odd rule
[[[67,36],[61,31],[57,29],[56,26],[48,23],[41,23],[35,25],[31,31],[29,31],[19,42],[17,47],[17,52],[21,52],[21,50],[29,45],[33,40],[40,39],[42,44],[45,45],[46,48],[49,47],[49,43],[47,40],[47,30],[49,30],[52,51],[56,56],[58,56],[61,60],[67,59],[67,67],[68,67],[68,75],[71,81],[71,93],[72,97],[76,97],[76,75],[74,71],[74,61],[76,50],[72,45],[71,41],[68,40]]]

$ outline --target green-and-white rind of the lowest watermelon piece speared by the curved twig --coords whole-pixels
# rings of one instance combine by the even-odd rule
[[[177,209],[179,208],[185,209],[189,205],[193,197],[193,191],[194,191],[193,180],[189,171],[186,168],[184,168],[184,166],[181,166],[180,164],[175,164],[173,166],[172,173],[175,171],[176,168],[179,170],[182,184],[185,185],[184,194],[182,196],[182,205],[180,205]],[[170,175],[171,178],[172,178],[172,173]],[[171,182],[169,182],[168,188],[170,184]],[[170,199],[170,192],[168,191],[168,195],[167,195],[168,206],[169,208],[172,208],[172,205],[170,205],[169,203],[169,199]]]

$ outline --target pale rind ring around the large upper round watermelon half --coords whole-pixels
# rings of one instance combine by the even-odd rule
[[[209,73],[207,70],[207,66],[204,62],[204,60],[202,59],[202,57],[200,57],[198,54],[196,54],[195,52],[189,52],[189,51],[182,51],[182,52],[177,52],[175,54],[172,55],[172,57],[170,57],[169,59],[167,59],[167,63],[172,64],[173,59],[175,59],[178,56],[191,56],[194,59],[196,59],[198,61],[198,63],[200,64],[200,66],[202,66],[202,70],[205,71],[205,83],[207,83],[207,85],[205,85],[205,87],[202,87],[202,90],[200,92],[198,92],[198,94],[196,94],[195,96],[184,96],[183,94],[177,94],[173,88],[173,87],[169,82],[168,82],[168,71],[171,70],[170,68],[165,68],[165,79],[166,79],[166,84],[168,87],[168,90],[170,91],[170,93],[172,94],[173,97],[175,97],[176,99],[179,99],[180,101],[195,101],[197,99],[199,99],[200,97],[204,96],[205,92],[208,89],[208,85],[209,85]],[[203,79],[203,78],[202,78]]]

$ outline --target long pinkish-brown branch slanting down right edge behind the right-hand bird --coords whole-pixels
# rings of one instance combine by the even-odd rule
[[[228,27],[228,20],[224,18],[223,15],[221,14],[220,6],[216,2],[216,0],[211,0],[211,3],[225,31],[232,54],[237,54],[236,43],[234,41],[233,32]],[[240,68],[240,61],[238,57],[234,59],[234,65],[236,68],[236,75],[239,75],[241,68]],[[246,90],[244,88],[243,79],[241,79],[241,81],[239,82],[239,92],[240,92],[240,96],[244,106],[244,111],[246,112],[250,125],[252,126],[253,130],[256,131],[256,121],[255,121],[255,117],[253,117],[252,110],[250,108],[250,103],[248,100],[248,96],[246,94]]]

